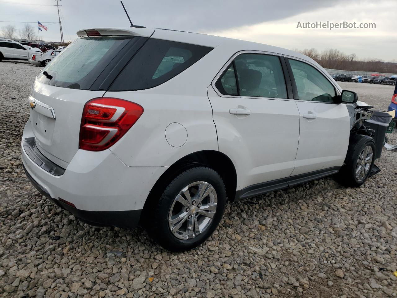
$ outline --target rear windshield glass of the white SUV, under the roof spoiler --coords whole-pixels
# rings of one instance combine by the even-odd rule
[[[80,37],[44,68],[43,72],[48,75],[42,72],[37,78],[48,85],[88,90],[131,39],[133,37],[127,36]]]

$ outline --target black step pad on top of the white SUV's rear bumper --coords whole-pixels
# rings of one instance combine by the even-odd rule
[[[34,137],[28,137],[24,139],[22,141],[22,146],[23,149],[25,149],[27,156],[29,156],[29,158],[40,168],[54,176],[62,176],[64,174],[64,168],[54,164],[39,151]]]

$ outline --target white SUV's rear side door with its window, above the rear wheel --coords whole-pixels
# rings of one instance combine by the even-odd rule
[[[295,167],[299,111],[284,63],[274,53],[238,53],[208,87],[219,151],[236,166],[238,190]]]

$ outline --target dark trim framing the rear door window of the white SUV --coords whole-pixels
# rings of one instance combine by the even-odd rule
[[[218,79],[222,78],[222,76],[229,69],[231,64],[233,64],[233,68],[235,70],[234,60],[235,60],[235,58],[237,56],[239,56],[241,54],[262,54],[262,55],[278,56],[279,60],[280,60],[281,68],[282,68],[282,71],[283,71],[283,75],[284,75],[285,88],[287,89],[287,97],[288,98],[260,97],[260,96],[240,96],[240,95],[225,95],[225,94],[222,94],[218,90],[218,88],[216,87],[215,84],[218,81]],[[236,76],[237,92],[239,93],[239,88],[238,88],[239,83],[238,83],[236,70],[235,70],[235,76]],[[237,98],[247,98],[247,99],[249,99],[249,98],[252,98],[252,99],[272,99],[272,100],[280,100],[280,101],[293,101],[294,100],[293,88],[292,88],[292,85],[291,85],[290,77],[288,75],[287,64],[285,63],[285,61],[283,59],[283,54],[279,54],[279,53],[275,53],[275,52],[258,51],[258,50],[241,50],[241,51],[235,52],[233,54],[233,56],[231,56],[229,58],[229,60],[227,60],[227,62],[224,64],[224,66],[222,66],[221,70],[218,72],[218,74],[216,74],[214,79],[212,79],[211,85],[212,85],[212,88],[214,88],[216,94],[218,94],[220,97],[237,97]]]

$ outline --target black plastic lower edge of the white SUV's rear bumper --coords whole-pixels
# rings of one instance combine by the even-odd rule
[[[141,218],[142,210],[127,210],[127,211],[87,211],[74,208],[59,199],[54,199],[46,192],[46,190],[38,184],[33,177],[23,166],[25,174],[33,186],[40,192],[40,194],[47,197],[52,203],[69,211],[81,221],[91,224],[93,226],[118,226],[120,228],[136,228]]]

